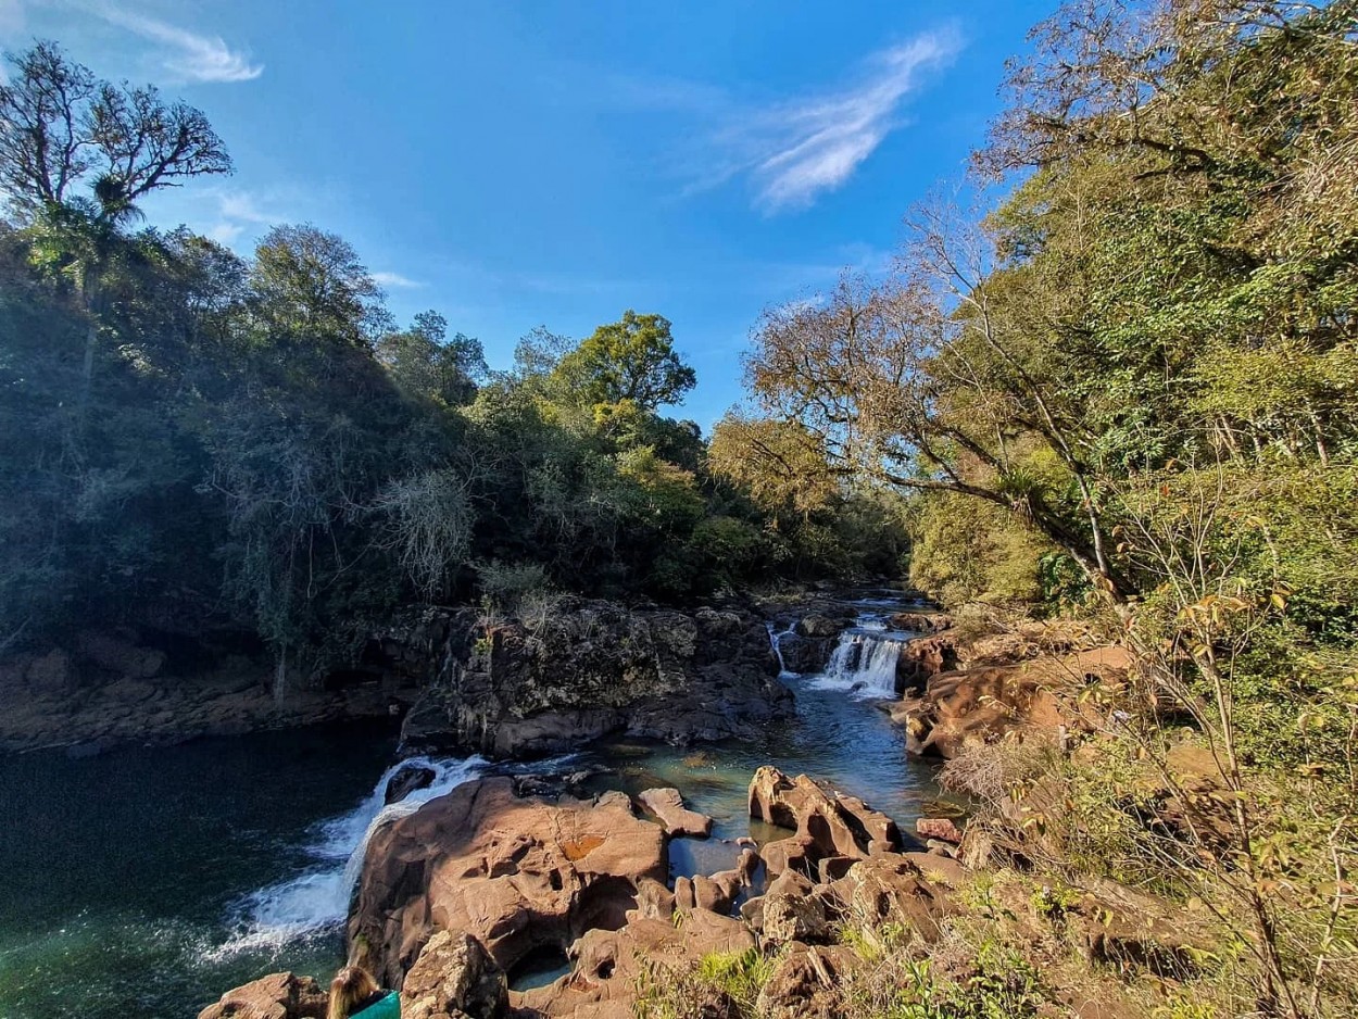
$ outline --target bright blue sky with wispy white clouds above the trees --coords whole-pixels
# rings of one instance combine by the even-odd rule
[[[333,230],[401,319],[441,311],[492,367],[536,325],[659,311],[708,428],[765,306],[883,270],[910,205],[960,182],[1050,5],[0,0],[0,43],[206,111],[236,174],[153,223],[242,253]]]

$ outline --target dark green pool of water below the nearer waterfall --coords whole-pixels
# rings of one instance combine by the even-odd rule
[[[318,825],[390,764],[322,728],[0,758],[0,1016],[182,1019],[278,969],[333,974],[335,927],[251,937],[243,897],[318,864]]]

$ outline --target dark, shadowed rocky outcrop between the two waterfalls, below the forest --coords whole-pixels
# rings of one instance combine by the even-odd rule
[[[792,709],[763,622],[736,609],[562,599],[532,629],[511,621],[477,633],[470,644],[451,639],[451,663],[406,720],[409,750],[504,758],[611,732],[678,743],[748,736]]]

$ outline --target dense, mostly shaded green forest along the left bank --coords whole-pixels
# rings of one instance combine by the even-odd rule
[[[894,575],[899,499],[752,500],[664,416],[669,322],[523,337],[490,371],[436,311],[398,326],[359,254],[280,226],[242,258],[137,201],[225,174],[206,117],[53,43],[0,87],[0,648],[73,621],[251,630],[280,675],[420,601],[684,601]]]

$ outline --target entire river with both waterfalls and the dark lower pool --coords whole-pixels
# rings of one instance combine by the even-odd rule
[[[849,605],[857,625],[824,673],[784,673],[797,713],[760,739],[615,740],[568,766],[610,768],[592,780],[598,789],[675,785],[713,815],[712,840],[672,842],[674,874],[732,864],[727,840],[751,833],[746,791],[763,764],[913,826],[937,808],[933,769],[907,758],[903,734],[873,704],[891,696],[896,655],[914,636],[885,621],[913,606],[887,592]],[[383,810],[395,749],[390,728],[345,726],[0,758],[0,1016],[190,1019],[265,973],[327,978],[342,961],[356,851]],[[395,810],[488,770],[479,758],[429,764],[435,785]],[[546,980],[551,966],[524,976]]]

